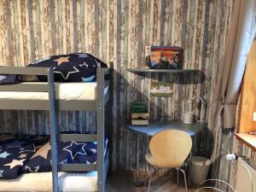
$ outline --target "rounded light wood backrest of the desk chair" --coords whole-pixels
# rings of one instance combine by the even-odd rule
[[[155,163],[161,168],[176,168],[183,165],[192,148],[192,140],[184,131],[161,131],[151,138],[149,149]]]

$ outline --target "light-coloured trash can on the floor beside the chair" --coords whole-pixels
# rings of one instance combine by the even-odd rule
[[[192,182],[195,184],[200,184],[201,182],[206,180],[211,164],[212,164],[211,160],[205,157],[201,157],[201,156],[192,157],[192,162],[191,162]]]

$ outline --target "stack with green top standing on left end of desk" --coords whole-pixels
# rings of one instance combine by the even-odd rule
[[[131,125],[148,125],[149,113],[145,102],[134,102],[131,106]]]

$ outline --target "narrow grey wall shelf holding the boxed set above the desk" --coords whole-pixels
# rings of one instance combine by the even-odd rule
[[[149,69],[149,68],[127,68],[131,73],[198,73],[198,69]]]

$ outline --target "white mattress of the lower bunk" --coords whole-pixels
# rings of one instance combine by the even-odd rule
[[[16,179],[0,180],[0,191],[51,192],[52,172],[26,173]],[[59,172],[61,192],[95,192],[97,172]]]

